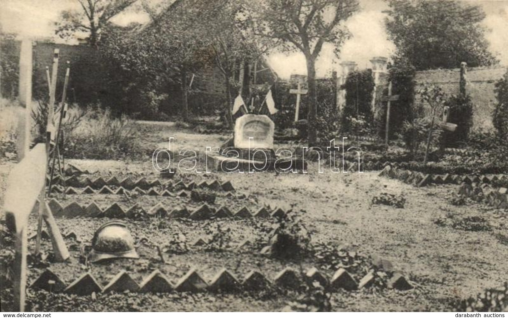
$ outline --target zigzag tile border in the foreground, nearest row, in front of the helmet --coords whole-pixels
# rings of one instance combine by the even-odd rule
[[[277,273],[273,280],[270,280],[259,271],[250,271],[242,280],[239,280],[228,269],[222,268],[210,280],[206,281],[196,269],[190,269],[184,276],[180,277],[176,284],[173,284],[159,270],[154,270],[150,275],[138,284],[127,272],[120,271],[115,275],[106,286],[102,286],[90,274],[84,273],[69,285],[65,285],[56,274],[47,269],[30,288],[34,290],[45,290],[52,293],[63,292],[67,294],[90,295],[92,293],[123,293],[126,291],[132,293],[171,293],[171,292],[211,292],[211,293],[232,293],[241,291],[259,291],[268,290],[273,287],[295,290],[305,280],[308,282],[317,281],[331,291],[340,289],[346,291],[361,290],[368,288],[374,281],[374,275],[369,272],[360,282],[357,282],[353,276],[344,268],[338,269],[329,280],[325,275],[319,272],[315,267],[310,268],[301,275],[290,267],[284,268]],[[400,273],[394,272],[393,277],[388,282],[389,288],[397,290],[410,290],[414,288],[412,284]]]

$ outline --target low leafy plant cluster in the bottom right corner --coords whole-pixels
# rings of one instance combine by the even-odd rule
[[[502,312],[508,309],[508,282],[504,286],[489,288],[476,298],[463,299],[454,306],[453,311]]]

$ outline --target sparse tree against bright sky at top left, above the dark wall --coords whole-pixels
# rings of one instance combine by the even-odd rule
[[[60,19],[55,23],[57,34],[66,39],[76,32],[89,33],[89,44],[95,46],[101,39],[101,33],[106,24],[138,0],[76,0],[80,10],[65,10],[60,13]]]

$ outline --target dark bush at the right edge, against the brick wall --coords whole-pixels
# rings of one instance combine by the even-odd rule
[[[497,137],[508,144],[508,72],[495,84],[497,104],[492,121],[497,131]]]

